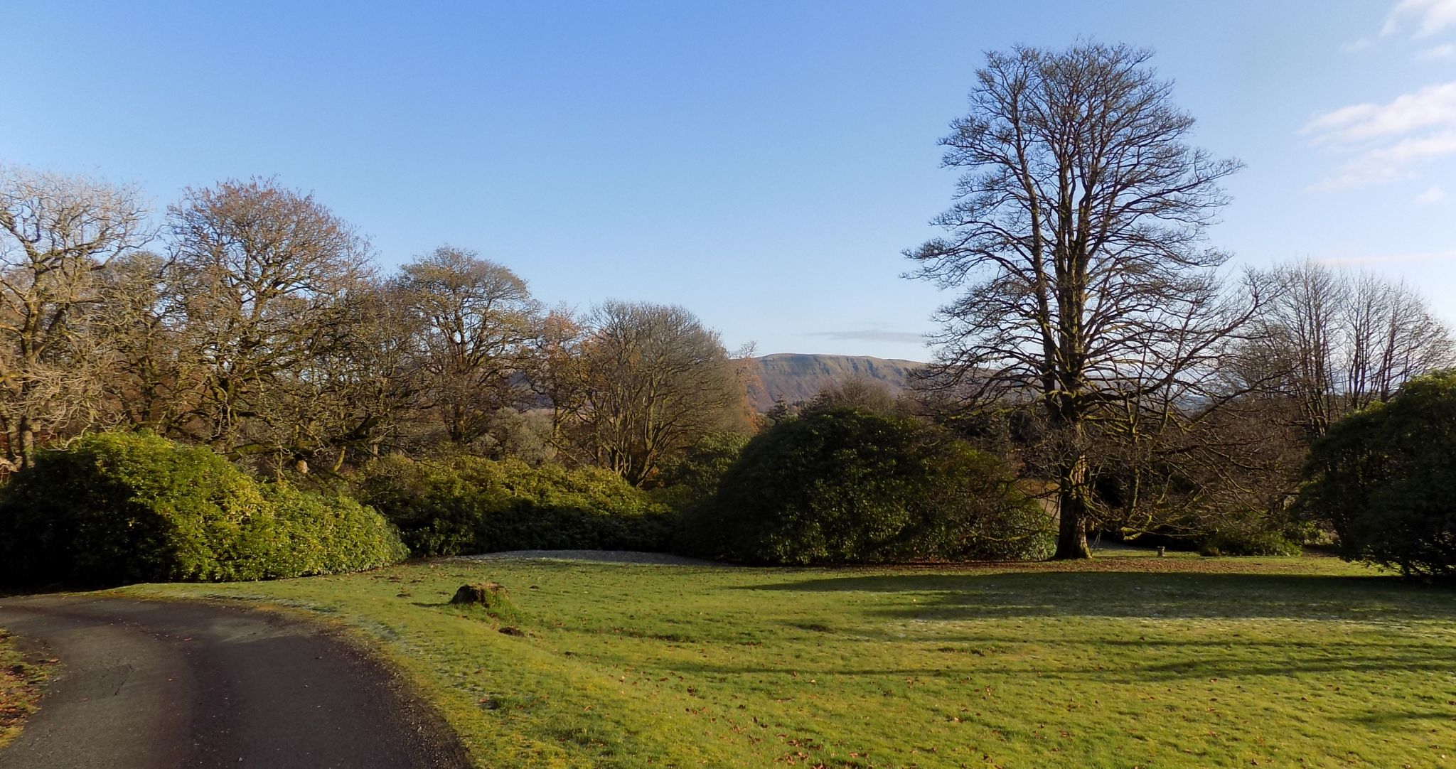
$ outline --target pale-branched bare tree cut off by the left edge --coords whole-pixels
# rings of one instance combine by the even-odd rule
[[[0,422],[7,460],[33,459],[36,435],[60,433],[99,396],[99,360],[83,316],[99,271],[150,239],[131,186],[0,169]]]

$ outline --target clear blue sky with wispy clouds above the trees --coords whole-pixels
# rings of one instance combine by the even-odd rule
[[[926,360],[901,280],[984,51],[1158,51],[1248,163],[1235,265],[1402,277],[1456,322],[1456,0],[13,3],[0,163],[277,175],[386,265],[473,248],[539,299],[683,304],[731,347]]]

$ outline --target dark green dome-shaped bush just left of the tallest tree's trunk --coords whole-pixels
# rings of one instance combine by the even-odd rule
[[[684,539],[769,564],[1013,559],[1041,555],[1048,524],[994,456],[914,419],[831,408],[756,435]]]

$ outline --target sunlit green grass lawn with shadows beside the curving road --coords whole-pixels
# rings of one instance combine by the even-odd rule
[[[505,584],[524,635],[447,604]],[[132,593],[357,626],[482,766],[1456,766],[1456,591],[1329,558],[414,564]]]

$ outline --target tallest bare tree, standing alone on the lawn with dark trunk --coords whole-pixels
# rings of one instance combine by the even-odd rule
[[[989,54],[941,140],[962,170],[933,220],[948,234],[906,252],[914,277],[960,291],[933,380],[971,403],[1035,398],[1047,415],[1057,558],[1091,555],[1093,440],[1176,415],[1239,322],[1220,301],[1226,255],[1204,242],[1239,163],[1188,144],[1194,118],[1149,57]]]

